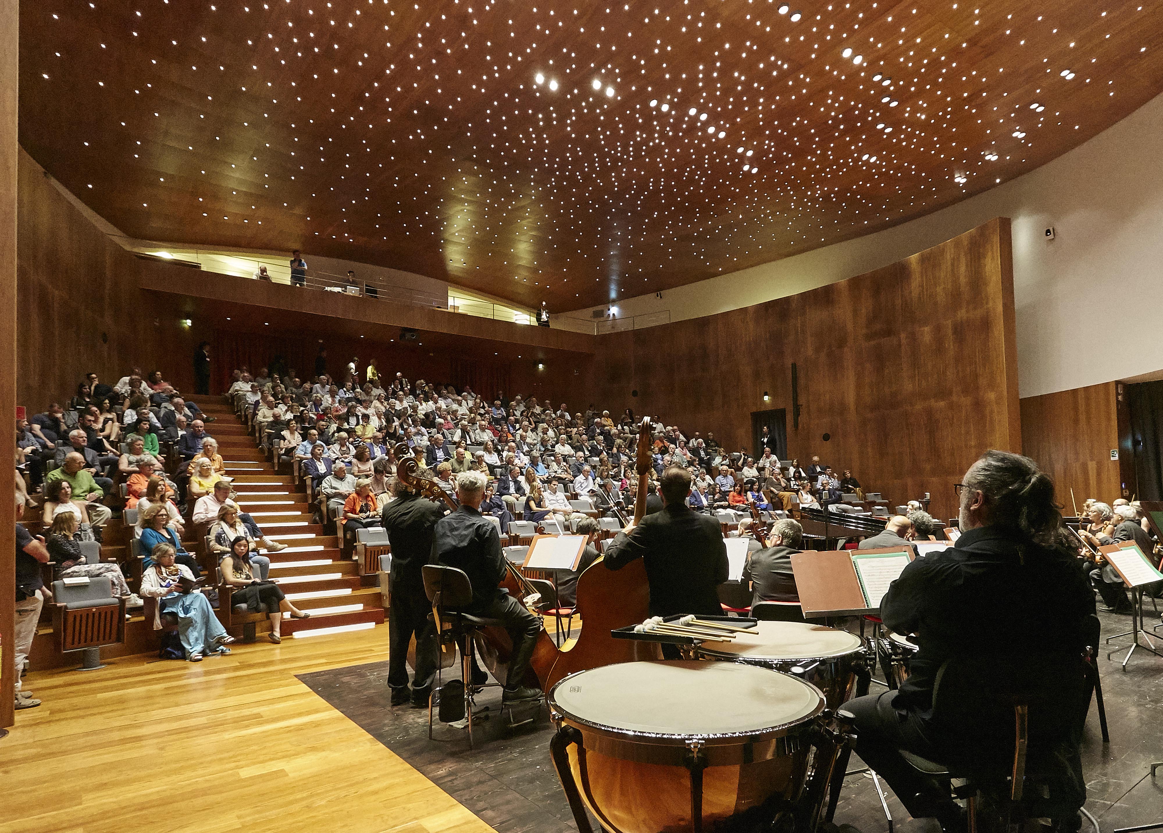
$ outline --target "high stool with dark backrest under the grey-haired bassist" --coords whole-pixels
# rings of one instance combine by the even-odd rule
[[[463,607],[468,607],[472,604],[472,585],[469,583],[469,576],[464,570],[458,570],[455,567],[443,567],[440,564],[424,564],[421,568],[421,574],[424,582],[424,595],[431,603],[433,612],[429,614],[429,620],[436,626],[437,639],[441,646],[449,643],[456,645],[457,650],[461,653],[461,688],[463,689],[463,695],[457,692],[457,696],[463,696],[464,698],[464,726],[469,729],[469,748],[472,749],[472,721],[473,718],[480,718],[484,720],[488,719],[488,706],[473,712],[473,706],[476,705],[476,696],[484,689],[501,688],[499,683],[484,683],[481,685],[475,685],[472,683],[472,655],[473,655],[473,639],[480,628],[485,627],[504,627],[505,622],[500,619],[488,619],[486,617],[477,617],[471,613],[465,613]],[[433,736],[433,703],[437,696],[437,692],[444,686],[441,684],[442,669],[441,663],[437,663],[437,685],[433,688],[431,693],[428,695],[428,739],[431,740]],[[536,700],[540,707],[542,700]],[[528,718],[521,721],[513,720],[513,706],[528,705],[534,703],[534,700],[522,700],[514,703],[502,703],[501,714],[509,712],[509,727],[521,726],[527,722],[531,722],[533,718]],[[454,722],[458,722],[457,719]]]

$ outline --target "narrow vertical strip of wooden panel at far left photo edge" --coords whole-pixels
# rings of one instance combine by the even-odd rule
[[[0,31],[7,31],[0,54],[0,413],[12,419],[16,411],[16,88],[19,49],[16,0],[0,0]],[[12,460],[16,437],[9,428],[0,434],[0,460]],[[15,501],[0,500],[0,728],[12,726],[12,646],[16,598]]]

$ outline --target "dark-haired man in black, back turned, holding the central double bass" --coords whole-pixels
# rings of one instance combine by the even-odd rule
[[[644,558],[650,583],[650,614],[721,615],[718,588],[727,581],[727,544],[714,518],[686,505],[691,475],[672,465],[662,472],[663,508],[632,521],[606,548],[602,563],[619,570]]]

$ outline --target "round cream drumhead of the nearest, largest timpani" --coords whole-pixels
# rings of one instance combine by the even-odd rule
[[[570,675],[550,692],[568,718],[598,728],[659,735],[756,733],[823,709],[819,690],[765,668],[727,662],[623,662]]]

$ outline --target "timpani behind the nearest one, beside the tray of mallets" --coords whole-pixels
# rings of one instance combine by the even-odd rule
[[[868,662],[859,636],[823,625],[779,621],[761,621],[729,642],[704,642],[695,655],[792,674],[820,689],[832,710],[851,697],[856,669]]]

